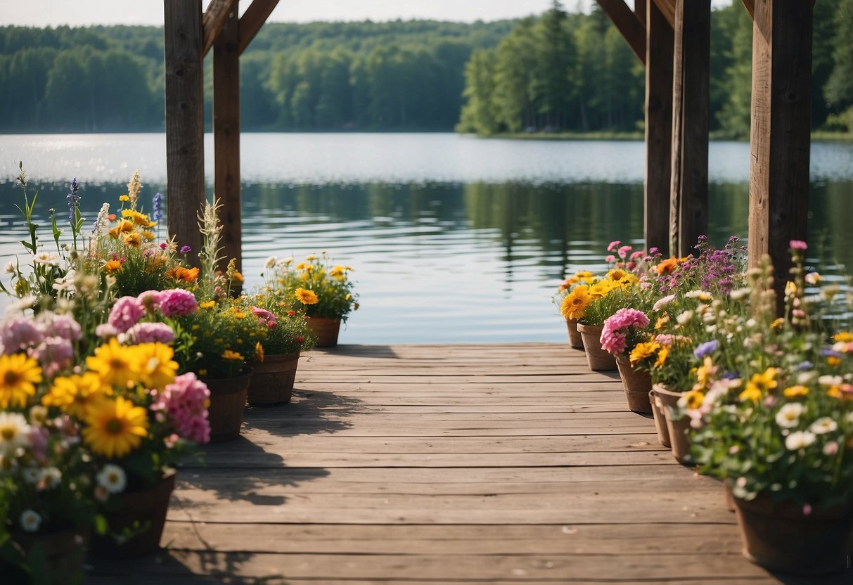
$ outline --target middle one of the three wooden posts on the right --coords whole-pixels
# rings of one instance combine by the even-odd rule
[[[674,35],[670,252],[686,256],[708,230],[711,0],[677,0]]]

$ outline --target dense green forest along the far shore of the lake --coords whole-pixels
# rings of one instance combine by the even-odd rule
[[[595,6],[595,5],[594,5]],[[853,0],[815,3],[812,125],[853,130]],[[748,136],[751,20],[711,14],[711,131]],[[212,119],[212,57],[206,120]],[[162,131],[163,30],[0,27],[0,132]],[[636,132],[644,72],[598,9],[471,24],[268,23],[241,57],[247,131]]]

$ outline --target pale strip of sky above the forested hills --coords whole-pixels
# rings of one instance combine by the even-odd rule
[[[565,9],[589,10],[595,0],[562,0]],[[206,8],[208,0],[202,0]],[[251,2],[241,0],[241,12]],[[714,6],[731,0],[712,0]],[[4,2],[4,25],[89,26],[163,24],[162,0],[9,0]],[[628,0],[630,6],[633,0]],[[542,14],[551,0],[283,0],[270,22],[312,20],[502,20]]]

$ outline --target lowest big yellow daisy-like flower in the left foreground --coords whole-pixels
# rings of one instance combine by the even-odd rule
[[[124,457],[148,435],[148,413],[124,397],[97,401],[89,411],[83,439],[99,455]]]

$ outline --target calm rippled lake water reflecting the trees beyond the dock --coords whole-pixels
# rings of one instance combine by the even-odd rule
[[[212,182],[212,137],[206,136]],[[610,240],[641,246],[642,142],[510,141],[454,134],[245,134],[243,271],[269,256],[327,251],[351,264],[361,308],[342,343],[562,341],[551,295],[566,272],[603,269]],[[84,216],[113,206],[134,170],[143,207],[165,194],[161,134],[0,136],[0,261],[26,235],[18,161],[44,217],[67,209],[77,177]],[[712,142],[709,237],[746,239],[749,145]],[[212,186],[208,188],[212,193]],[[811,262],[853,265],[853,144],[812,145]]]

